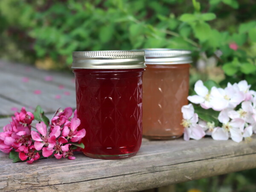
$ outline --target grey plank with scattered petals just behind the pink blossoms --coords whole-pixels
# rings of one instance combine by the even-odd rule
[[[53,83],[38,79],[30,79],[28,82],[22,82],[21,79],[19,74],[0,71],[0,97],[31,109],[41,105],[45,112],[54,112],[59,107],[76,108],[75,89],[59,89]],[[11,114],[6,114],[0,108],[0,115]]]

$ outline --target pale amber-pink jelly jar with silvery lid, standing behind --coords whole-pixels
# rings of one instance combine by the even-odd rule
[[[170,140],[183,135],[181,107],[188,104],[191,52],[145,49],[143,136]]]

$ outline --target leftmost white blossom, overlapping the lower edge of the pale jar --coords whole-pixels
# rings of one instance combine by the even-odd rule
[[[181,124],[184,126],[184,140],[189,140],[189,138],[199,140],[203,138],[205,132],[202,127],[197,124],[198,115],[195,113],[192,104],[183,106],[181,112],[183,113]]]

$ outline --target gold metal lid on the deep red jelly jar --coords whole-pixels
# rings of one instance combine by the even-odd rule
[[[73,52],[72,69],[145,68],[144,51]]]

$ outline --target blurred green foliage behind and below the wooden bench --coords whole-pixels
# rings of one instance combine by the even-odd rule
[[[0,0],[0,57],[68,69],[73,51],[189,49],[191,85],[198,79],[220,86],[246,79],[256,89],[255,10],[255,0]],[[245,177],[233,175],[230,190]]]

